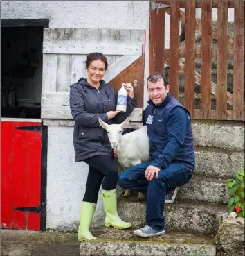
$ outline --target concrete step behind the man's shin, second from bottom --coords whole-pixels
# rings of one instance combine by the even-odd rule
[[[137,196],[118,197],[119,216],[130,221],[134,228],[145,225],[145,208],[145,202],[140,203]],[[167,231],[215,234],[221,216],[226,212],[227,205],[176,199],[174,203],[165,205],[165,228]]]

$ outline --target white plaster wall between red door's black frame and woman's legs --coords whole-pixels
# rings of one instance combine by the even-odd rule
[[[75,164],[73,128],[48,127],[47,228],[69,229],[78,223],[87,164]]]

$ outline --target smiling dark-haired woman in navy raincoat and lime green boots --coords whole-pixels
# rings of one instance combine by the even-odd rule
[[[129,228],[130,223],[120,219],[116,207],[118,169],[113,162],[112,148],[107,133],[99,124],[99,117],[106,123],[122,123],[134,110],[134,90],[127,83],[127,112],[116,110],[117,94],[102,78],[107,71],[107,58],[102,53],[90,53],[86,60],[87,79],[80,78],[71,85],[70,108],[75,126],[73,144],[75,162],[89,165],[78,228],[78,240],[95,239],[89,228],[96,208],[98,192],[102,185],[105,207],[105,225],[114,228]]]

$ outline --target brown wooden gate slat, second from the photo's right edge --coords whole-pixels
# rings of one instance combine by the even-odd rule
[[[216,119],[227,119],[228,2],[218,4]]]

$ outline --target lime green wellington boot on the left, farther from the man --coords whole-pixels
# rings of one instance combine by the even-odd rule
[[[93,237],[93,235],[89,231],[95,210],[96,210],[95,203],[82,202],[82,207],[80,212],[80,223],[78,228],[78,241],[87,241],[91,239],[96,239],[96,237]]]

